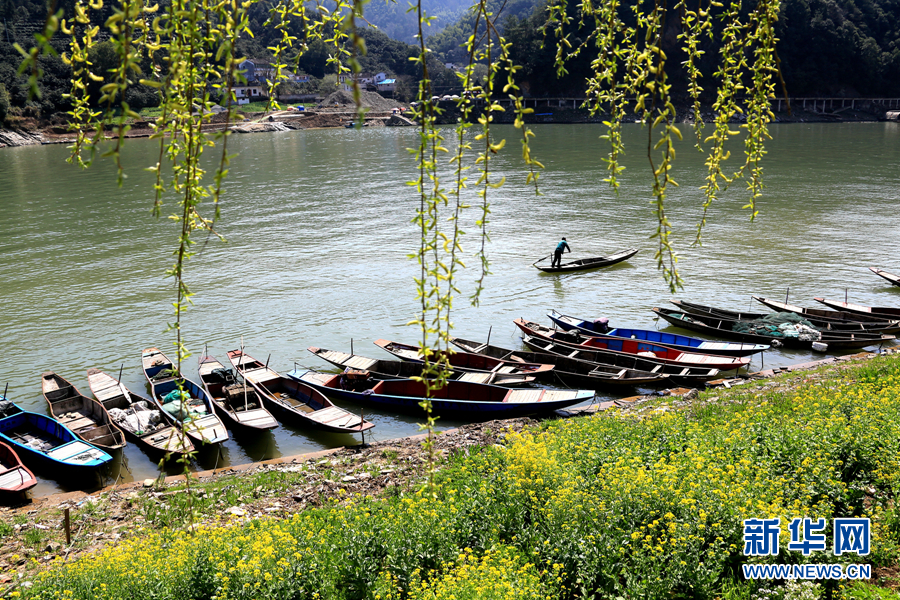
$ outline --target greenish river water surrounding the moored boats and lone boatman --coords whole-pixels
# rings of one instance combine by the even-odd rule
[[[616,196],[603,183],[606,153],[594,125],[536,126],[534,153],[544,163],[542,195],[525,182],[517,131],[497,127],[507,148],[492,168],[506,185],[491,190],[492,274],[478,307],[465,297],[477,278],[477,208],[463,227],[469,269],[453,322],[460,337],[519,346],[515,317],[547,322],[550,309],[607,316],[613,325],[663,327],[650,307],[672,296],[653,259],[655,231],[646,163],[646,130],[626,126],[627,167]],[[452,130],[446,131],[449,136]],[[701,214],[704,158],[690,135],[678,146],[668,199],[669,218],[685,289],[678,298],[735,309],[764,310],[751,294],[797,304],[813,296],[900,306],[892,288],[867,269],[900,273],[898,183],[900,126],[896,123],[772,126],[759,216],[750,222],[745,184],[736,183],[709,214],[703,245],[692,247]],[[387,358],[372,341],[415,343],[407,322],[417,302],[413,278],[418,200],[406,182],[415,175],[407,148],[411,129],[306,130],[234,136],[233,161],[217,231],[226,242],[198,236],[187,269],[194,306],[184,318],[196,373],[205,345],[220,360],[243,339],[257,358],[288,371],[296,363],[327,365],[306,352],[315,345]],[[176,224],[150,209],[156,161],[149,140],[127,144],[128,178],[116,186],[109,161],[88,170],[67,165],[66,148],[40,146],[0,152],[0,385],[27,409],[46,412],[40,374],[56,371],[83,392],[86,369],[99,367],[145,391],[140,351],[172,348]],[[740,155],[736,146],[734,153]],[[210,161],[212,165],[212,161]],[[470,183],[477,178],[470,171]],[[470,190],[468,200],[478,199]],[[174,212],[166,198],[164,215]],[[547,275],[531,263],[566,236],[573,257],[636,246],[627,263],[587,273]],[[756,304],[754,306],[754,304]],[[812,360],[797,351],[766,353],[765,366]],[[762,366],[759,357],[752,366]],[[124,365],[124,367],[123,367]],[[601,395],[602,397],[611,397]],[[358,409],[354,409],[358,410]],[[367,413],[371,436],[385,440],[418,432],[416,419]],[[440,421],[441,427],[455,423]],[[281,426],[256,439],[232,438],[196,468],[292,455],[354,439]],[[156,465],[129,444],[107,483],[156,475]],[[61,489],[41,479],[35,495]]]

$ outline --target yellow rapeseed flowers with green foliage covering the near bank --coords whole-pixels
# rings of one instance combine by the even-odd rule
[[[741,565],[894,567],[900,361],[546,422],[451,456],[427,490],[287,519],[146,530],[54,565],[26,598],[881,598],[745,581]],[[868,556],[743,554],[743,520],[868,517]],[[830,537],[829,537],[830,539]],[[847,585],[847,587],[844,587]],[[800,591],[797,591],[800,590]],[[802,594],[802,596],[801,596]]]

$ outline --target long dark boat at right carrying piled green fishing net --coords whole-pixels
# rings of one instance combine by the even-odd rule
[[[785,348],[803,348],[808,350],[813,347],[813,342],[819,342],[826,345],[825,351],[847,350],[874,346],[894,339],[892,335],[871,335],[867,333],[842,333],[836,335],[833,332],[818,332],[819,339],[816,340],[786,336],[775,337],[771,334],[763,335],[735,330],[735,326],[739,323],[746,324],[750,323],[750,321],[724,319],[711,315],[688,314],[668,308],[653,307],[652,310],[657,316],[676,327],[709,335],[731,337],[746,342],[768,342],[773,346],[784,346]]]

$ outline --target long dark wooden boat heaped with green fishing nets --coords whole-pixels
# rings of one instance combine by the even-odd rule
[[[712,315],[688,314],[680,310],[659,307],[653,307],[652,310],[658,317],[676,327],[746,342],[768,342],[773,346],[785,348],[816,349],[824,352],[877,346],[894,339],[892,335],[851,332],[835,334],[830,331],[821,332],[811,327],[805,329],[793,327],[785,330],[774,323],[760,320],[741,321]],[[816,342],[820,346],[814,347],[813,344]]]

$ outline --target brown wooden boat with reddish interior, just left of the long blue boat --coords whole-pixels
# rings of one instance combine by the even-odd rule
[[[229,351],[228,360],[259,392],[269,410],[296,423],[336,433],[360,433],[375,427],[360,415],[335,405],[316,389],[283,377],[241,350]]]

